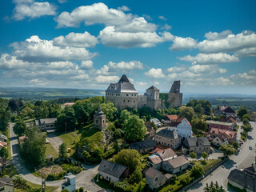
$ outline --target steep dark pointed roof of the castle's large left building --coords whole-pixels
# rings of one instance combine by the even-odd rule
[[[125,74],[122,75],[122,78],[120,78],[117,83],[110,83],[110,86],[107,88],[106,92],[138,93],[138,91],[135,90],[134,85],[130,83]]]

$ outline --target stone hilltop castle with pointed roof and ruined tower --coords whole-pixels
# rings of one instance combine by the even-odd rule
[[[143,106],[147,106],[151,110],[160,110],[182,106],[180,81],[174,81],[169,93],[159,93],[158,88],[150,86],[145,94],[138,94],[134,85],[123,74],[117,83],[110,83],[107,88],[106,102],[108,101],[113,102],[118,110],[125,108],[140,109]]]

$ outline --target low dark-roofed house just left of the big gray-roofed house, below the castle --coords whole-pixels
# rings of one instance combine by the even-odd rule
[[[130,144],[130,149],[138,150],[138,153],[148,153],[151,150],[154,150],[156,144],[154,140],[148,139],[142,142],[134,142]]]

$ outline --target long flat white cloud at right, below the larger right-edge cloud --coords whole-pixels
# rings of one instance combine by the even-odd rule
[[[182,61],[193,62],[193,64],[218,64],[226,62],[239,62],[239,58],[230,54],[197,54],[196,56],[186,55],[183,58],[178,58]]]

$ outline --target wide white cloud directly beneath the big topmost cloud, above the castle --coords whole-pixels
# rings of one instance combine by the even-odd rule
[[[172,37],[173,35],[169,32],[163,32],[161,36],[155,32],[117,32],[114,26],[106,26],[99,34],[103,45],[118,46],[120,48],[152,47],[157,43],[170,41]]]

